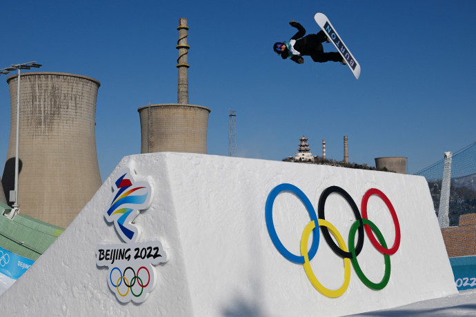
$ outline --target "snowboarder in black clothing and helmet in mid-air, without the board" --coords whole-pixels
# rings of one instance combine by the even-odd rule
[[[339,61],[346,64],[346,61],[338,52],[324,52],[322,43],[329,42],[324,31],[317,34],[306,34],[303,26],[296,21],[290,21],[289,24],[297,28],[297,33],[287,42],[277,42],[272,49],[280,54],[282,59],[291,59],[298,64],[304,63],[303,56],[310,56],[317,63],[325,63],[326,61]]]

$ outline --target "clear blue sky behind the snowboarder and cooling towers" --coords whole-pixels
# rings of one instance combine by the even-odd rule
[[[103,180],[139,154],[137,108],[177,102],[179,18],[190,27],[190,103],[212,110],[208,154],[228,155],[228,108],[238,156],[281,161],[299,138],[310,150],[375,166],[408,157],[413,174],[476,141],[476,1],[4,1],[0,68],[38,61],[43,72],[101,81],[96,138]],[[272,43],[296,20],[317,32],[323,12],[361,64],[284,61]],[[324,43],[324,50],[335,50]],[[26,70],[28,72],[28,70]],[[0,167],[10,126],[0,76]]]

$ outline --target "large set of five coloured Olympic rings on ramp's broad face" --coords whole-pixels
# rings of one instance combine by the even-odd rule
[[[289,252],[288,249],[286,249],[286,247],[284,247],[284,245],[279,240],[279,237],[277,236],[275,225],[272,221],[272,205],[274,204],[276,197],[281,192],[290,192],[292,194],[295,194],[295,196],[297,196],[301,203],[303,203],[306,207],[311,219],[310,223],[306,225],[304,232],[301,236],[301,256],[292,254],[291,252]],[[334,192],[342,196],[349,203],[356,218],[355,222],[350,227],[350,232],[348,236],[348,247],[346,246],[344,238],[342,238],[341,234],[337,231],[334,225],[332,225],[325,219],[324,206],[326,205],[326,199],[330,194]],[[368,199],[370,198],[370,196],[373,195],[378,196],[379,198],[381,198],[382,201],[384,201],[393,218],[393,223],[395,225],[395,242],[390,248],[387,247],[384,236],[381,234],[379,228],[367,218]],[[319,291],[321,294],[324,294],[328,297],[339,297],[344,294],[344,292],[346,292],[346,289],[348,288],[348,285],[350,283],[350,263],[352,263],[355,273],[357,274],[357,276],[359,276],[360,280],[362,281],[362,283],[364,283],[364,285],[366,285],[370,289],[375,290],[383,289],[384,287],[386,287],[388,280],[390,280],[390,255],[395,254],[395,252],[397,252],[400,246],[400,225],[397,218],[397,214],[395,213],[395,209],[393,208],[392,203],[390,203],[388,197],[380,190],[371,188],[362,197],[360,214],[359,208],[355,204],[355,201],[353,201],[353,199],[345,190],[343,190],[341,187],[330,186],[326,188],[326,190],[324,190],[324,192],[322,192],[321,196],[319,197],[317,214],[319,218],[317,218],[315,209],[310,203],[309,198],[295,185],[283,183],[277,185],[271,190],[270,194],[268,194],[268,199],[266,200],[266,227],[268,228],[268,233],[270,235],[271,241],[275,245],[279,253],[284,256],[284,258],[294,263],[302,264],[304,266],[304,271],[306,272],[306,275],[308,276],[310,282],[313,284],[315,289],[317,289],[317,291]],[[333,249],[333,251],[337,255],[341,256],[341,258],[344,259],[344,283],[341,287],[339,287],[339,289],[333,290],[324,287],[324,285],[319,283],[319,280],[317,280],[313,269],[310,267],[309,261],[314,258],[317,249],[319,248],[320,236],[318,227],[321,227],[322,235],[324,236],[324,240],[326,240],[326,243],[329,245],[329,247]],[[364,229],[372,245],[381,254],[384,254],[385,273],[384,277],[378,283],[374,283],[365,276],[357,260],[357,256],[359,256],[362,247],[364,246]],[[338,245],[336,245],[333,241],[333,238],[330,236],[329,231],[337,240]],[[311,232],[313,232],[313,243],[311,244],[310,249],[308,250],[308,240]],[[355,245],[356,232],[358,232],[357,245]],[[374,232],[377,238],[375,238]]]

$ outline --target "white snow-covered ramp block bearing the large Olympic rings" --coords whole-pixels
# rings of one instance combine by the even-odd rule
[[[98,245],[123,243],[103,217],[117,179],[112,174],[50,249],[0,297],[2,316],[335,316],[457,293],[421,176],[170,152],[128,156],[116,171],[123,167],[153,189],[150,207],[135,218],[141,232],[137,243],[160,241],[168,256],[155,265],[156,285],[148,298],[120,303],[108,286],[108,269],[96,265]],[[272,207],[268,201],[272,226],[269,219],[267,226],[268,196],[285,183],[291,187],[274,192]],[[319,197],[332,186],[345,190],[360,214],[372,188],[395,209],[401,239],[389,256],[390,278],[383,289],[367,287],[353,265],[350,278],[344,278],[345,261],[321,230],[315,256],[314,234],[308,232],[307,268],[281,254],[284,248],[299,261],[310,215],[318,214]],[[351,205],[334,192],[324,212],[348,245],[356,217]],[[393,247],[395,219],[382,198],[368,198],[367,216]],[[357,260],[368,280],[378,283],[385,276],[384,256],[367,234]],[[348,287],[331,298],[315,288],[315,280],[330,291],[346,281]]]

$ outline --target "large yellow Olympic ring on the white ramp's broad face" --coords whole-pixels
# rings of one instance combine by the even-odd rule
[[[330,233],[333,234],[333,236],[337,239],[337,243],[339,243],[339,246],[341,249],[344,250],[344,252],[348,252],[346,243],[344,242],[344,238],[342,238],[341,234],[337,231],[336,227],[332,223],[329,223],[328,221],[324,219],[319,219],[319,226],[324,226],[328,227],[330,230]],[[309,255],[308,255],[308,240],[310,233],[313,231],[313,229],[316,227],[316,224],[314,221],[311,221],[306,225],[306,228],[304,228],[304,232],[302,233],[301,237],[301,255],[304,256],[304,271],[306,271],[306,275],[308,276],[310,283],[313,284],[315,289],[317,291],[321,292],[321,294],[328,296],[328,297],[339,297],[342,294],[344,294],[347,290],[347,287],[349,286],[350,283],[350,258],[344,258],[344,284],[339,289],[328,289],[322,285],[319,280],[317,280],[313,269],[310,267],[309,263]],[[119,281],[118,281],[119,283]]]

